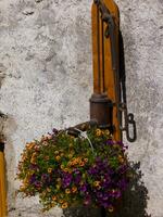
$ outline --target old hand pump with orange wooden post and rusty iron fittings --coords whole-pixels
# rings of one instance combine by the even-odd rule
[[[127,113],[123,39],[114,0],[93,0],[91,20],[93,94],[90,119],[96,119],[101,128],[109,128],[114,140],[122,141],[123,131],[126,131],[127,140],[134,142],[136,123],[134,115]],[[101,216],[105,215],[101,208]]]

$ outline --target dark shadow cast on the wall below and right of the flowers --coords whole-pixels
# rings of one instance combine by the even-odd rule
[[[151,217],[147,214],[148,190],[141,181],[140,163],[133,164],[136,171],[129,183],[128,190],[123,195],[123,202],[116,214],[108,214],[106,217]],[[65,217],[102,217],[99,208],[77,207],[64,210]]]

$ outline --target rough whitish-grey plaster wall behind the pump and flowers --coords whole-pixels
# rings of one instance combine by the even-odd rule
[[[20,153],[52,127],[89,118],[91,0],[0,0],[0,111],[8,114],[5,157],[9,216],[41,214],[36,199],[15,197]],[[163,2],[117,0],[125,42],[127,95],[138,140],[129,155],[141,162],[148,213],[163,217]],[[139,216],[138,216],[139,217]]]

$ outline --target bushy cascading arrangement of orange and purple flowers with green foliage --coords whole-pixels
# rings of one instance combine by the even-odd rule
[[[18,163],[20,192],[39,195],[43,210],[84,204],[113,212],[129,181],[126,149],[108,129],[93,127],[78,137],[53,130],[26,144]]]

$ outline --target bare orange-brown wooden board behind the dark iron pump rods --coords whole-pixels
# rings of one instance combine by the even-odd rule
[[[104,4],[111,12],[111,14],[114,17],[116,27],[115,27],[115,37],[116,37],[116,52],[117,52],[117,58],[118,58],[118,28],[120,28],[120,13],[118,13],[118,8],[115,4],[113,0],[103,0]],[[102,89],[102,61],[104,61],[104,86],[105,86],[105,92],[112,102],[115,102],[115,79],[114,79],[114,72],[112,69],[112,53],[111,53],[111,43],[110,43],[110,38],[104,39],[104,60],[102,55],[102,24],[99,22],[99,36],[98,36],[98,18],[97,15],[98,10],[97,5],[93,3],[92,9],[91,9],[91,21],[92,21],[92,69],[93,69],[93,92],[95,93],[101,93],[103,92]],[[100,14],[99,14],[99,21],[100,21]],[[105,24],[103,26],[105,28]],[[98,60],[98,38],[100,41],[100,56]],[[100,67],[98,62],[100,62]],[[118,62],[118,60],[117,60]],[[118,65],[118,64],[117,64]],[[100,69],[100,77],[99,77],[99,69]],[[118,68],[117,68],[118,69]],[[99,81],[100,79],[100,81]],[[100,85],[100,87],[99,87]],[[120,130],[120,125],[117,119],[117,110],[116,106],[113,108],[113,125],[115,126],[115,132],[113,135],[115,140],[122,140],[122,135]]]

